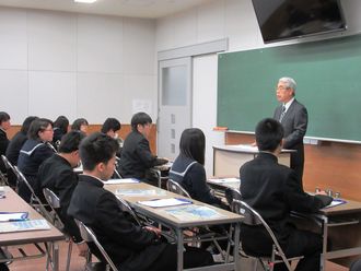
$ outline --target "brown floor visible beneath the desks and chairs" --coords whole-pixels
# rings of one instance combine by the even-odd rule
[[[32,247],[30,246],[24,246],[25,249],[32,250]],[[14,252],[14,248],[10,248],[10,251]],[[60,243],[60,271],[63,271],[66,269],[66,261],[67,261],[67,251],[68,251],[68,244],[65,241]],[[82,271],[84,270],[84,262],[85,259],[81,258],[78,256],[78,250],[77,247],[73,246],[73,251],[72,251],[72,258],[71,258],[71,266],[70,270],[71,271]],[[38,271],[38,270],[45,270],[45,264],[46,264],[46,259],[45,257],[38,258],[38,259],[33,259],[33,260],[24,260],[24,261],[15,261],[9,266],[11,271]],[[237,270],[242,271],[251,271],[253,270],[253,264],[252,262],[247,260],[243,260],[240,264],[240,268]],[[348,268],[340,267],[338,264],[327,262],[326,263],[326,271],[348,271]]]

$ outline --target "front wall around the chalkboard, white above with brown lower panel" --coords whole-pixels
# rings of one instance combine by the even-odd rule
[[[341,3],[348,23],[348,31],[347,33],[336,35],[361,33],[361,16],[359,15],[361,14],[361,1],[341,0]],[[159,19],[156,21],[155,49],[158,51],[166,50],[225,37],[229,38],[229,51],[265,47],[252,0],[214,0],[186,12]],[[294,42],[283,44],[290,43]],[[202,60],[202,58],[207,58],[207,60]],[[207,61],[207,66],[203,66],[203,68],[197,64],[202,61]],[[197,67],[196,72],[194,72],[195,82],[209,81],[214,75],[208,70],[209,67],[217,67],[217,58],[209,58],[209,56],[197,57],[195,63]],[[202,95],[202,98],[199,98],[199,93],[203,94],[205,91],[198,87],[197,84],[194,84],[193,92],[194,108],[206,110],[202,105],[209,105],[207,107],[207,120],[205,119],[203,121],[201,119],[205,113],[200,109],[194,109],[194,126],[205,129],[206,123],[212,123],[212,121],[216,123],[217,104],[213,102],[217,101],[217,82],[209,85],[208,93]],[[219,134],[207,132],[206,136],[208,143],[220,142]],[[222,143],[249,143],[249,138],[247,137],[235,137],[233,140],[223,139]],[[339,155],[340,153],[342,155]],[[361,196],[354,192],[359,191],[358,188],[361,188],[361,172],[358,170],[360,161],[356,158],[359,156],[359,145],[353,148],[342,143],[307,145],[304,176],[305,188],[308,190],[313,190],[315,187],[334,188],[335,191],[341,191],[342,196],[361,200]],[[210,152],[207,154],[207,160],[212,160]],[[324,161],[327,161],[327,163],[323,163]],[[335,165],[340,166],[335,167]],[[207,173],[211,175],[211,170],[207,170]],[[342,184],[347,184],[347,186],[342,186]]]

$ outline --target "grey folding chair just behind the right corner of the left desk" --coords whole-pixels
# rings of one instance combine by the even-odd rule
[[[44,188],[43,193],[44,193],[44,197],[45,197],[46,201],[48,202],[48,204],[51,209],[51,214],[53,214],[53,222],[51,223],[53,223],[53,225],[55,225],[59,231],[63,232],[65,225],[63,225],[60,216],[56,212],[56,210],[60,208],[60,199],[49,188]],[[71,251],[72,251],[72,241],[71,241],[71,237],[69,235],[67,235],[67,239],[69,241],[69,246],[68,246],[68,257],[67,257],[67,268],[66,268],[66,270],[69,271],[70,260],[71,260]]]

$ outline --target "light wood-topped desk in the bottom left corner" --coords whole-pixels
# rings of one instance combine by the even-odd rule
[[[0,212],[28,212],[32,220],[44,219],[31,205],[28,205],[18,193],[10,187],[4,187],[5,197],[0,199]],[[63,234],[54,227],[50,223],[50,229],[1,233],[0,246],[18,246],[36,243],[53,243],[53,270],[59,270],[59,246],[57,241],[66,239]],[[50,256],[48,255],[50,259]]]

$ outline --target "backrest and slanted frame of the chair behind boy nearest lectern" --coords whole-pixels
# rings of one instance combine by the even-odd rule
[[[261,225],[266,228],[267,233],[269,234],[269,237],[272,239],[273,243],[273,250],[271,251],[272,256],[273,254],[276,254],[277,256],[281,257],[284,264],[288,267],[289,270],[291,270],[290,263],[287,260],[284,252],[273,234],[273,231],[269,227],[269,225],[260,216],[260,214],[242,200],[233,200],[232,210],[235,210],[236,213],[244,216],[244,220],[242,220],[242,224],[246,224],[249,226]]]

